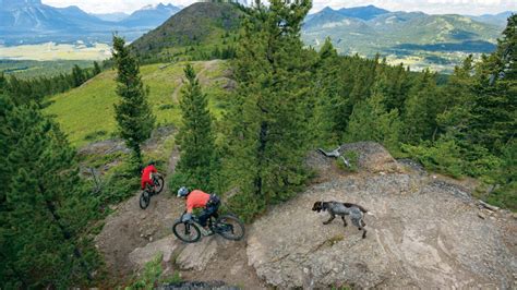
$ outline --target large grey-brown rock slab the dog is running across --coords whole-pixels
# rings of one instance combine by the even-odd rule
[[[341,146],[348,148],[360,153],[363,170],[378,173],[338,176],[313,185],[252,226],[249,263],[268,285],[516,287],[517,222],[509,213],[480,218],[465,189],[436,177],[397,173],[397,162],[376,145]],[[369,165],[373,161],[377,164]],[[311,210],[316,201],[357,203],[371,210],[366,239],[339,218],[324,226],[327,214]]]

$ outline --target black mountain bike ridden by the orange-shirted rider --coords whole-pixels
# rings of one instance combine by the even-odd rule
[[[183,215],[187,213],[183,213]],[[207,226],[211,232],[207,232],[200,223],[196,217],[192,220],[181,221],[181,218],[172,226],[175,235],[185,243],[195,243],[201,240],[202,235],[219,234],[220,237],[239,241],[244,237],[244,222],[233,215],[223,215],[218,218],[211,216]],[[203,232],[203,233],[202,233]]]

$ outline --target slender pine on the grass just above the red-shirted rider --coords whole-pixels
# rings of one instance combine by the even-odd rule
[[[113,59],[117,67],[117,95],[115,106],[120,135],[133,150],[135,169],[142,164],[141,144],[149,138],[156,118],[147,102],[148,89],[144,88],[140,68],[122,38],[113,36]]]

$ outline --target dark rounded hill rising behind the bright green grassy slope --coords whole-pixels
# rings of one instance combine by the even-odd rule
[[[194,3],[131,46],[143,60],[209,55],[235,43],[241,11],[230,3]]]

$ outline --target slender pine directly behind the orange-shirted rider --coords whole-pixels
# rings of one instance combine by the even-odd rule
[[[175,185],[189,185],[212,191],[216,160],[208,100],[201,90],[191,64],[185,67],[184,74],[187,83],[180,98],[182,125],[177,137],[181,156],[177,172],[187,179],[188,184]]]

